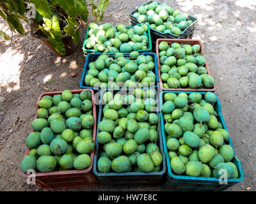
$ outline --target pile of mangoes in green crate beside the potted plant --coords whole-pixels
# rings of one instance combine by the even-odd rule
[[[86,39],[86,49],[93,49],[97,52],[124,52],[129,53],[137,50],[148,49],[148,25],[141,24],[127,28],[125,25],[112,27],[106,23],[88,25],[89,38]]]

